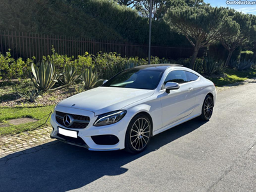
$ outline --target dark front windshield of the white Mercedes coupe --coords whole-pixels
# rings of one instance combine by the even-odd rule
[[[131,68],[112,77],[102,86],[154,90],[163,75],[163,70]]]

